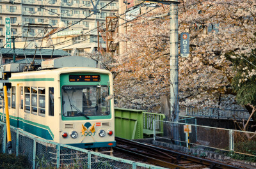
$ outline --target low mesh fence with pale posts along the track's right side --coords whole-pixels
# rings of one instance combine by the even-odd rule
[[[154,128],[154,140],[256,157],[256,133],[181,122],[154,121],[154,124],[159,122],[163,123],[164,133],[157,135],[157,129]]]

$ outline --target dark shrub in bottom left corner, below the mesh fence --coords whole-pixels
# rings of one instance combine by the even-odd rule
[[[28,158],[15,154],[0,154],[0,168],[6,169],[26,169],[29,168]]]

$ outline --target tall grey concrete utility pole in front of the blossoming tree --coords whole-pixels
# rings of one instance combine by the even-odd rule
[[[179,121],[179,51],[178,51],[178,4],[170,3],[170,117]]]

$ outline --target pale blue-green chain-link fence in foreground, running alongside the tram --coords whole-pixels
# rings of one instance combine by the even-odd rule
[[[12,126],[11,135],[12,153],[27,156],[32,168],[163,168],[51,142]],[[3,122],[0,122],[0,145],[1,152],[6,153],[6,124]]]

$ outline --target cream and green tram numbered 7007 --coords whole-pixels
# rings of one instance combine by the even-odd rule
[[[88,67],[88,59],[63,57],[43,61],[42,70],[12,73],[9,82],[12,126],[81,148],[115,146],[111,72]]]

